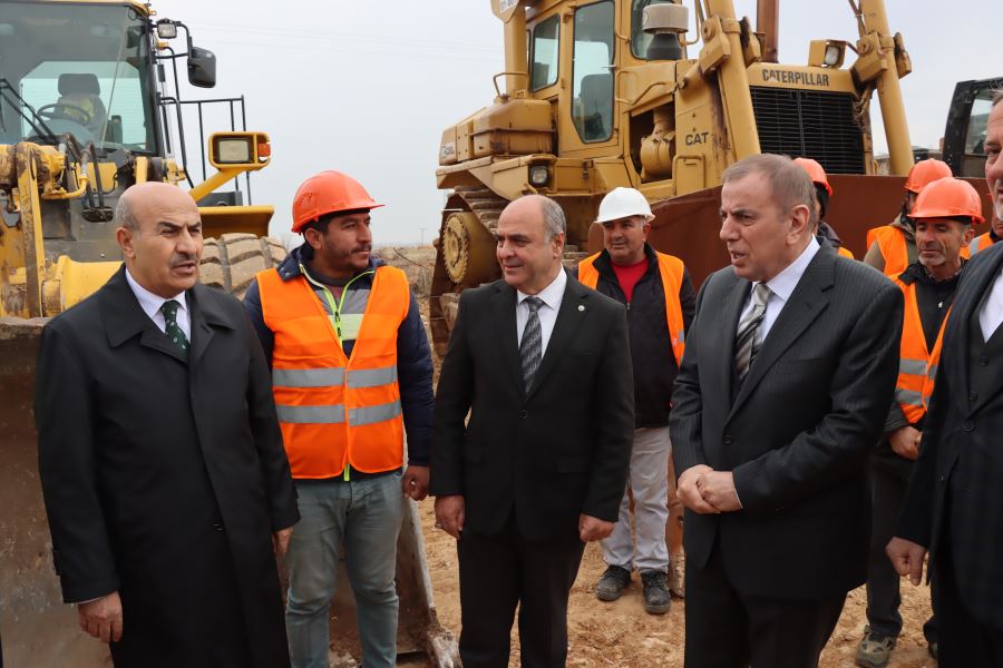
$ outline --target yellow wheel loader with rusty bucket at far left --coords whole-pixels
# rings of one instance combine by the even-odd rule
[[[218,191],[269,164],[265,134],[232,122],[230,131],[212,135],[204,180],[192,181],[183,106],[197,106],[203,150],[203,106],[228,104],[233,119],[243,98],[182,100],[178,63],[189,84],[208,88],[215,57],[193,46],[184,23],[154,17],[149,4],[132,0],[0,0],[0,635],[9,666],[110,665],[107,647],[86,636],[62,602],[32,400],[46,321],[94,293],[120,264],[111,217],[121,193],[147,180],[187,186],[207,237],[201,281],[236,296],[285,256],[266,237],[273,207],[244,203],[250,179],[243,191]],[[179,30],[186,43],[175,51],[171,40]],[[206,153],[216,170],[207,178]],[[436,618],[409,504],[398,546],[400,654],[450,666],[455,642]],[[342,582],[332,608],[333,649],[358,657],[348,592]]]

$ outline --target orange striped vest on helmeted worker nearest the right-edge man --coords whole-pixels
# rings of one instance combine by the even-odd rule
[[[906,284],[897,277],[895,283],[905,296],[905,320],[902,325],[895,399],[909,424],[916,424],[929,406],[929,397],[937,376],[937,364],[941,362],[944,330],[947,326],[947,318],[951,317],[951,310],[944,316],[933,351],[928,351],[926,337],[923,335],[923,322],[919,320],[916,284]]]

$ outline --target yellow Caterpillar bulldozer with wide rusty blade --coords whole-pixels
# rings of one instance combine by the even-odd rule
[[[788,65],[778,62],[779,0],[758,0],[754,27],[731,0],[491,0],[505,40],[497,95],[439,145],[436,177],[449,193],[429,298],[437,354],[459,294],[500,277],[493,233],[526,194],[561,204],[572,265],[602,247],[602,197],[640,189],[655,214],[649,240],[699,285],[728,264],[717,236],[724,169],[758,153],[808,157],[836,193],[827,222],[863,257],[866,230],[897,215],[913,165],[899,88],[912,62],[883,0],[849,8],[853,39],[814,39],[808,61]],[[877,176],[875,94],[894,176]],[[681,517],[676,505],[674,553]]]

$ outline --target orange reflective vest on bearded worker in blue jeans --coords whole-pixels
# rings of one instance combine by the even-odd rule
[[[362,325],[345,357],[305,277],[257,274],[265,325],[275,335],[272,386],[293,478],[377,473],[403,465],[397,331],[408,315],[408,278],[378,267]]]

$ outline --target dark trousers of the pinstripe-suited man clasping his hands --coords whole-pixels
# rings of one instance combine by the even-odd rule
[[[816,668],[845,600],[746,596],[714,546],[704,568],[686,563],[685,668]]]

